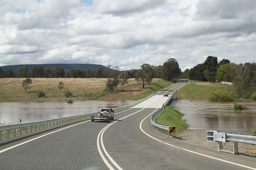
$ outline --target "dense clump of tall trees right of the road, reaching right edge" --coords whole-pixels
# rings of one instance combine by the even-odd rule
[[[249,98],[256,91],[256,63],[230,63],[208,56],[204,63],[186,69],[182,78],[205,82],[231,82],[239,98]]]

